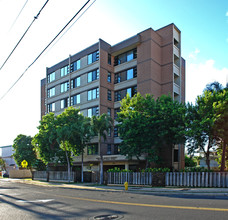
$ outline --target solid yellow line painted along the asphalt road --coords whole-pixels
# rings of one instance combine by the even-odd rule
[[[107,204],[117,204],[117,205],[128,205],[128,206],[142,206],[142,207],[153,207],[153,208],[169,208],[169,209],[188,209],[188,210],[203,210],[203,211],[219,211],[219,212],[228,212],[228,209],[222,208],[207,208],[207,207],[192,207],[192,206],[172,206],[172,205],[156,205],[156,204],[144,204],[144,203],[130,203],[130,202],[115,202],[108,200],[98,200],[98,199],[87,199],[82,197],[72,197],[72,196],[63,196],[56,195],[62,198],[75,199],[88,202],[99,202]]]

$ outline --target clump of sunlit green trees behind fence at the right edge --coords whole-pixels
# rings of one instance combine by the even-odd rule
[[[212,148],[222,148],[222,166],[225,166],[227,148],[227,88],[218,82],[208,84],[201,96],[197,97],[195,106],[188,104],[188,151],[203,151],[208,169],[210,169],[210,152]]]

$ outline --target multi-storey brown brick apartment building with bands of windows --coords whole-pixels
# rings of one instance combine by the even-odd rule
[[[127,93],[134,96],[137,92],[155,98],[170,94],[174,100],[185,101],[185,60],[181,57],[181,32],[174,24],[156,31],[149,28],[113,46],[99,39],[47,68],[46,79],[41,81],[41,114],[60,114],[74,106],[84,116],[107,113],[115,119],[119,101]],[[143,157],[129,161],[120,155],[120,142],[116,127],[101,149],[97,139],[92,140],[85,150],[85,169],[98,170],[100,151],[105,170],[114,166],[135,169],[145,163]],[[183,168],[183,146],[177,145],[163,156],[167,167]],[[74,165],[80,162],[76,157]]]

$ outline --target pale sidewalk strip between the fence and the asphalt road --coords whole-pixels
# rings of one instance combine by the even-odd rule
[[[5,181],[34,184],[39,186],[75,188],[79,190],[112,191],[112,192],[134,192],[153,194],[188,194],[188,195],[220,195],[228,197],[228,188],[183,188],[183,187],[150,187],[150,186],[129,186],[125,191],[124,185],[96,185],[94,183],[61,183],[43,182],[31,179],[1,179]]]

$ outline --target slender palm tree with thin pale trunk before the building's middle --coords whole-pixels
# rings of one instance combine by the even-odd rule
[[[113,129],[113,120],[107,114],[100,116],[93,116],[91,125],[95,134],[98,134],[98,149],[100,152],[100,184],[103,184],[103,153],[101,151],[101,137],[104,141],[107,138],[107,132],[109,129]]]

